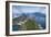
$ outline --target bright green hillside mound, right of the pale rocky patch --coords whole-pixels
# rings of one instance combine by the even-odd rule
[[[34,20],[28,20],[24,25],[27,26],[27,29],[39,29],[39,26]]]

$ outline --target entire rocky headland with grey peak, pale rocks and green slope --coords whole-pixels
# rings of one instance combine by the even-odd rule
[[[40,29],[34,17],[29,17],[24,14],[19,17],[13,18],[13,25],[14,24],[18,25],[18,30]]]

